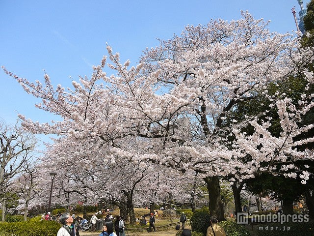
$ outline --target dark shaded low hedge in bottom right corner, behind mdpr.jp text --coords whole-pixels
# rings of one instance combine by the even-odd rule
[[[314,221],[308,223],[261,224],[256,228],[256,231],[257,236],[310,236],[314,235]]]

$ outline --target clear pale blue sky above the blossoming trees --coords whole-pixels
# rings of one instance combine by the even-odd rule
[[[310,0],[303,0],[304,7]],[[236,20],[248,10],[270,20],[269,29],[296,30],[291,8],[297,0],[0,0],[0,65],[34,82],[45,70],[52,84],[71,87],[71,79],[90,77],[91,66],[106,55],[106,42],[122,61],[135,64],[146,47],[159,45],[187,25],[210,19]],[[49,122],[28,95],[0,71],[0,118],[15,123],[17,114]]]

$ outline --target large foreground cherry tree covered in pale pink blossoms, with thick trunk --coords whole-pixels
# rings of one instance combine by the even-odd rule
[[[208,187],[210,214],[221,220],[220,177],[251,178],[256,172],[273,172],[274,163],[287,158],[293,165],[293,160],[313,156],[311,150],[293,148],[309,142],[294,142],[293,137],[312,127],[298,126],[300,116],[313,107],[311,94],[302,96],[302,106],[293,106],[288,97],[269,97],[270,105],[278,107],[280,137],[267,131],[271,117],[261,121],[248,115],[224,126],[238,104],[266,93],[269,83],[300,73],[309,85],[313,83],[313,73],[304,69],[313,51],[300,49],[294,35],[269,32],[267,24],[242,12],[239,20],[187,26],[180,36],[160,40],[160,46],[147,50],[131,67],[107,46],[108,67],[116,74],[107,76],[104,57],[90,79],[73,82],[74,90],[68,92],[61,85],[53,89],[47,74],[44,86],[4,70],[26,92],[42,99],[38,108],[62,118],[40,124],[19,115],[26,129],[63,135],[69,148],[86,140],[84,151],[96,142],[87,160],[102,149],[110,153],[101,155],[105,162],[119,163],[129,156],[134,162],[151,162],[183,174],[197,172]],[[254,127],[253,134],[243,132],[248,125]],[[230,141],[229,136],[235,139]],[[250,160],[243,161],[248,156]],[[286,175],[293,177],[290,164],[282,168],[291,170]],[[303,179],[308,175],[304,171]]]

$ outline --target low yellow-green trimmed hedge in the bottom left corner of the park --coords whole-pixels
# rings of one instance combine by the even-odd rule
[[[21,236],[56,236],[60,224],[55,221],[0,223],[0,232]]]

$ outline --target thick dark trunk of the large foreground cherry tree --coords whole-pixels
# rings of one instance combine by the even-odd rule
[[[224,206],[220,197],[219,177],[205,177],[204,178],[209,192],[209,214],[215,215],[218,221],[224,220]]]

